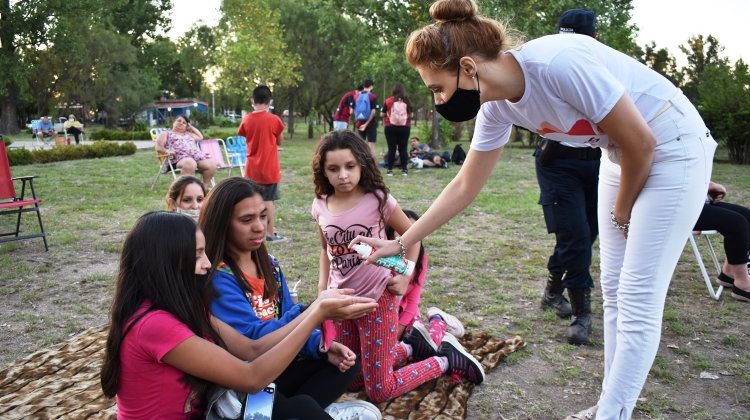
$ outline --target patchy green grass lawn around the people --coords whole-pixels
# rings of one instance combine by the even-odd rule
[[[290,282],[303,280],[300,297],[309,300],[320,245],[310,215],[314,142],[300,137],[287,141],[281,152],[284,180],[277,202],[279,233],[292,241],[271,244],[270,250]],[[381,133],[379,151],[384,144]],[[469,418],[559,419],[593,405],[600,391],[599,289],[592,346],[566,344],[567,322],[539,309],[553,237],[537,204],[530,155],[529,149],[506,150],[474,204],[425,242],[430,273],[422,308],[436,305],[469,328],[518,334],[528,343],[475,389]],[[729,190],[727,201],[750,205],[750,167],[717,163],[714,168],[713,179]],[[157,169],[153,151],[12,169],[14,176],[38,176],[50,251],[43,251],[41,240],[0,245],[0,364],[107,322],[124,234],[142,213],[164,208],[171,181],[162,176],[149,190]],[[457,169],[412,171],[386,182],[402,207],[423,213]],[[10,222],[0,219],[0,229]],[[32,229],[31,216],[23,226]],[[596,257],[593,271],[598,278]],[[686,247],[635,418],[750,418],[749,310],[728,295],[711,300]],[[704,371],[719,379],[700,379]]]

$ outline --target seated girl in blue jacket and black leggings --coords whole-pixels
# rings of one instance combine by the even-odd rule
[[[266,250],[267,212],[257,184],[246,178],[227,178],[211,191],[200,218],[206,252],[216,262],[211,283],[217,296],[211,312],[253,339],[288,334],[305,310],[304,305],[292,302],[279,262]],[[299,357],[274,379],[278,393],[307,395],[322,408],[344,393],[359,373],[356,355],[339,343],[323,353],[320,343],[320,330],[313,329]],[[374,406],[366,404],[362,409],[377,412],[379,418]]]

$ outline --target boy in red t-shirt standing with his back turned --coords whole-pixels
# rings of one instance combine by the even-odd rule
[[[273,202],[280,198],[281,164],[278,148],[284,140],[284,123],[281,118],[272,114],[271,89],[258,86],[253,90],[253,112],[245,115],[237,134],[245,137],[247,143],[247,163],[245,178],[260,185],[263,190],[263,201],[268,211],[268,229],[266,241],[283,241],[286,238],[274,230]]]

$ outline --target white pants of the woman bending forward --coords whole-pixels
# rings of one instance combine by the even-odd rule
[[[598,218],[604,380],[597,420],[628,419],[633,412],[659,347],[667,288],[711,177],[716,142],[687,98],[679,94],[671,102],[649,122],[657,146],[633,206],[627,240],[610,222],[620,166],[602,154]]]

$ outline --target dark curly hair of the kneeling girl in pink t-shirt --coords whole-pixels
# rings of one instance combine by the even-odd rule
[[[334,150],[349,149],[354,155],[354,159],[362,167],[362,174],[359,177],[359,187],[365,193],[373,193],[378,199],[378,211],[380,212],[380,224],[385,226],[385,202],[388,198],[388,187],[383,182],[383,175],[378,169],[378,164],[372,157],[370,147],[362,140],[361,137],[350,130],[331,131],[323,135],[313,154],[313,183],[315,184],[315,196],[323,198],[326,195],[333,195],[336,190],[326,177],[326,153]]]

